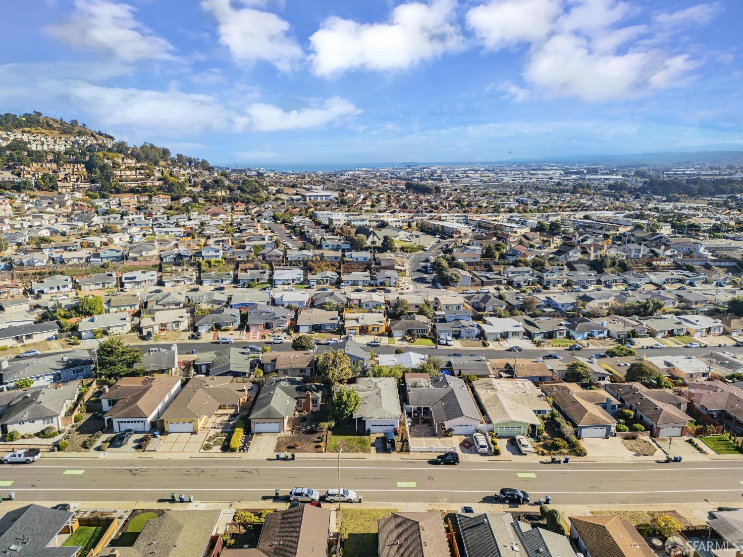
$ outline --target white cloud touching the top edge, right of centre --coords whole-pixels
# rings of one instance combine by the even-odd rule
[[[473,7],[466,19],[485,47],[496,51],[545,39],[560,13],[559,0],[492,0]]]

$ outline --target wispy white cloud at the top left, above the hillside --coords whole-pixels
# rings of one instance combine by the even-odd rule
[[[173,57],[173,46],[134,19],[134,7],[120,2],[76,0],[70,19],[47,30],[74,48],[106,51],[122,62]]]

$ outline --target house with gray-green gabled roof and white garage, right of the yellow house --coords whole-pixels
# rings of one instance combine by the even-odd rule
[[[291,377],[268,378],[250,410],[250,430],[256,434],[290,431],[297,411],[317,411],[321,403],[322,385]]]

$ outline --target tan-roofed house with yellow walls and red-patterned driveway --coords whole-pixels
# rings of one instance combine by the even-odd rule
[[[165,433],[198,433],[217,415],[238,414],[247,403],[251,383],[231,377],[192,377],[160,416]]]

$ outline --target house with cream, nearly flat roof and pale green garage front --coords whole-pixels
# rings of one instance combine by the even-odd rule
[[[528,380],[485,377],[472,383],[475,400],[498,437],[531,436],[550,413],[545,394]]]

